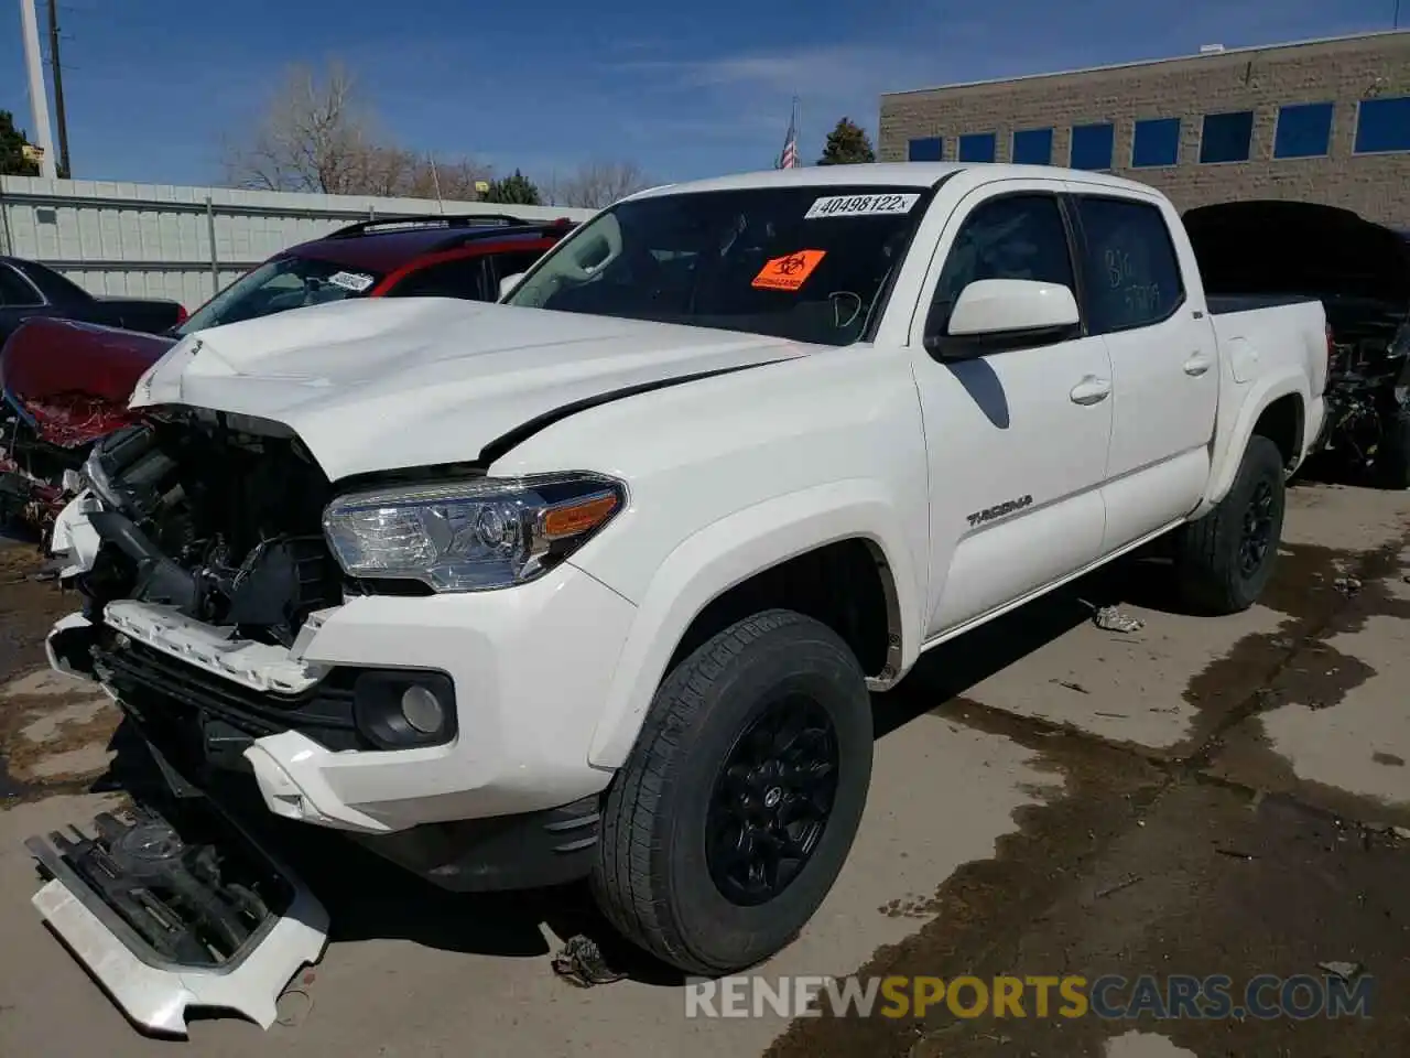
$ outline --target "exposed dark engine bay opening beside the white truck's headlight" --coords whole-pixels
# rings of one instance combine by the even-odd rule
[[[140,600],[289,646],[310,612],[341,601],[320,523],[329,481],[295,437],[154,416],[103,439],[83,473],[103,504],[79,581],[92,612]]]

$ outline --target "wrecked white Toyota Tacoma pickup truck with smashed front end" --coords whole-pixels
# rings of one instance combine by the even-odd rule
[[[173,347],[58,522],[49,656],[197,787],[447,889],[589,877],[729,972],[833,884],[925,650],[1166,533],[1193,602],[1258,598],[1325,371],[1321,305],[1211,303],[1138,183],[657,188],[498,305]]]

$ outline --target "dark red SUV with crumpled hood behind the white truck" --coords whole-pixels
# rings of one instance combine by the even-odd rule
[[[189,319],[147,329],[87,316],[23,322],[0,348],[0,522],[47,530],[93,442],[133,420],[137,379],[186,334],[347,298],[496,300],[501,279],[574,227],[499,214],[365,220],[275,254]]]

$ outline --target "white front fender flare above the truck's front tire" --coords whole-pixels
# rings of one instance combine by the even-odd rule
[[[888,681],[900,679],[919,653],[922,600],[897,505],[869,480],[790,492],[692,533],[657,568],[618,656],[588,763],[612,770],[626,762],[671,655],[711,601],[756,573],[847,539],[869,542],[890,567],[901,643]]]

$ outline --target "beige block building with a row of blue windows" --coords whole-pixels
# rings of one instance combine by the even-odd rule
[[[894,92],[880,157],[1070,165],[1180,209],[1303,199],[1410,229],[1410,30]]]

